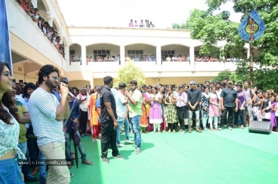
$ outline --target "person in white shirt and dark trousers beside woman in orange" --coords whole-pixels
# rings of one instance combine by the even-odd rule
[[[79,108],[81,112],[81,116],[80,116],[80,128],[82,133],[81,137],[85,137],[87,122],[88,122],[88,99],[87,99],[87,90],[85,87],[82,87],[81,94],[77,95],[76,100],[79,101]]]

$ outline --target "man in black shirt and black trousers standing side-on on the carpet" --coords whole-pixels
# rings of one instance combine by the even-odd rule
[[[117,149],[117,112],[115,98],[111,92],[113,78],[104,77],[104,86],[100,90],[101,104],[101,160],[109,163],[107,158],[108,144],[110,140],[113,158],[124,159]]]

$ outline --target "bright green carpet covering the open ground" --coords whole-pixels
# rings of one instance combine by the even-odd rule
[[[124,135],[121,135],[124,140]],[[133,135],[131,135],[133,140]],[[278,134],[245,130],[142,134],[142,153],[119,148],[125,160],[100,160],[100,142],[82,138],[94,165],[73,166],[71,183],[278,183]],[[73,147],[72,147],[73,150]],[[80,154],[79,154],[80,156]]]

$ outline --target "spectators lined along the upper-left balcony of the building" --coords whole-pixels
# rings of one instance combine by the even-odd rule
[[[39,9],[34,8],[33,4],[31,3],[31,0],[17,0],[20,6],[24,9],[24,11],[31,17],[33,22],[38,24],[38,27],[44,33],[44,35],[47,37],[49,42],[56,47],[57,51],[65,56],[65,49],[63,47],[63,44],[60,44],[61,39],[58,36],[57,31],[54,30],[54,27],[49,25],[49,22],[44,21],[44,19],[38,14]]]

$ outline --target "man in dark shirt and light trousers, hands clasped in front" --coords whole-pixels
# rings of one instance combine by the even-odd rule
[[[201,101],[201,91],[197,89],[196,82],[190,81],[190,90],[188,90],[187,101],[188,101],[188,133],[192,132],[192,116],[193,112],[196,117],[196,131],[202,133],[201,128],[199,128],[199,102]]]

